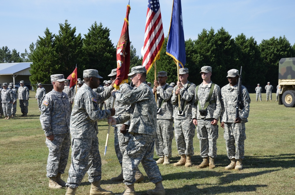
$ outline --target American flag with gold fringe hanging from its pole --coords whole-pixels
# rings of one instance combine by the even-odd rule
[[[145,42],[143,45],[142,66],[147,72],[156,60],[164,44],[164,31],[159,0],[148,0],[147,19],[145,22]]]

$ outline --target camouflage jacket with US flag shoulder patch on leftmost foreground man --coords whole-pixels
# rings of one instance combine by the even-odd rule
[[[64,92],[50,91],[42,98],[40,123],[45,135],[69,133],[70,104]]]

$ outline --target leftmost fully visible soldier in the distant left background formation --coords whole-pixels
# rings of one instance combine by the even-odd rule
[[[2,84],[3,89],[1,90],[1,102],[2,102],[2,109],[3,109],[3,115],[4,119],[10,119],[11,118],[11,107],[14,100],[14,95],[11,89],[8,88],[7,83]]]

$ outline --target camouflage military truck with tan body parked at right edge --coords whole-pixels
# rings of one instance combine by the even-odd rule
[[[295,107],[295,57],[282,58],[278,64],[279,105]]]

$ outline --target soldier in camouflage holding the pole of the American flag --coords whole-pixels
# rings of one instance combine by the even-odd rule
[[[158,72],[158,81],[154,80],[153,93],[157,92],[157,136],[155,137],[156,153],[160,158],[157,164],[170,164],[173,139],[173,105],[171,97],[173,87],[166,83],[167,72]]]

